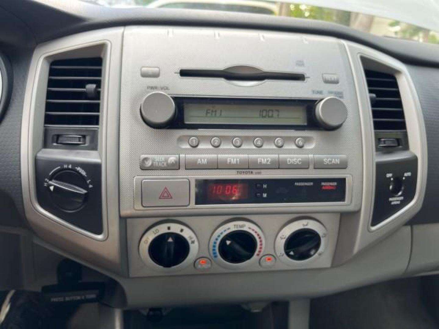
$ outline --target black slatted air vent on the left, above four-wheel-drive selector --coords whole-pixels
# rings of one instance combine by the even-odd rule
[[[102,58],[53,61],[47,82],[46,126],[98,126]]]

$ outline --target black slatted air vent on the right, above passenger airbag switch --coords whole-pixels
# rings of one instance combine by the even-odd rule
[[[403,104],[395,75],[364,71],[375,131],[405,131]]]

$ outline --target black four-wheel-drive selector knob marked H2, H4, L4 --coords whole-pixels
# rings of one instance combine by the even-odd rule
[[[88,183],[82,175],[73,170],[61,170],[47,183],[50,198],[64,211],[77,211],[87,200]]]

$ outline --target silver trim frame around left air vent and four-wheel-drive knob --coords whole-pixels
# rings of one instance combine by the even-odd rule
[[[84,261],[92,262],[114,273],[126,272],[121,266],[124,261],[121,260],[120,254],[119,205],[114,200],[114,198],[119,200],[118,183],[114,180],[119,170],[116,154],[118,148],[114,146],[114,142],[110,142],[112,136],[117,135],[115,132],[119,124],[119,107],[116,104],[119,102],[120,88],[120,71],[110,70],[110,66],[120,67],[122,35],[123,28],[110,28],[79,33],[42,43],[36,47],[26,86],[28,92],[25,94],[23,107],[20,155],[25,215],[36,235],[47,243],[67,250],[71,255],[76,255]],[[104,221],[104,232],[101,235],[86,232],[44,211],[38,204],[35,194],[35,155],[43,146],[44,106],[41,104],[44,104],[42,102],[46,95],[49,70],[47,58],[53,60],[88,55],[103,57],[102,83],[105,92],[101,100],[98,145],[102,165]],[[107,166],[108,161],[112,166]],[[108,184],[115,184],[116,187],[109,187]],[[112,193],[108,193],[109,190]]]

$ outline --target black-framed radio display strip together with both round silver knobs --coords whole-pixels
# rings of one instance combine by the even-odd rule
[[[153,92],[145,97],[140,112],[149,126],[165,129],[334,130],[347,118],[345,104],[336,97],[172,97]]]

